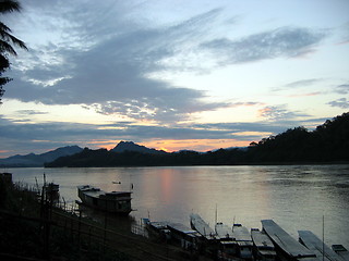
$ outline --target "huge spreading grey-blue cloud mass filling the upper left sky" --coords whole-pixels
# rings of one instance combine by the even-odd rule
[[[45,104],[83,104],[104,114],[161,122],[228,105],[203,101],[205,91],[148,77],[153,72],[166,70],[166,59],[192,48],[185,45],[204,35],[219,9],[179,24],[151,28],[127,23],[129,20],[120,10],[116,11],[120,17],[116,18],[108,10],[100,18],[98,15],[110,4],[98,4],[97,10],[85,5],[83,11],[74,10],[74,15],[70,9],[62,16],[55,12],[60,23],[58,29],[53,27],[55,20],[47,26],[72,37],[32,49],[25,61],[13,66],[15,80],[9,84],[7,98]]]

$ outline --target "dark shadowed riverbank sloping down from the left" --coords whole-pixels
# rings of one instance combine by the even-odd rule
[[[209,260],[55,206],[0,178],[0,257],[12,260]]]

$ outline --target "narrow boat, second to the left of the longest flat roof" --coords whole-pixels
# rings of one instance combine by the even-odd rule
[[[234,238],[237,256],[244,260],[252,260],[253,244],[249,229],[241,224],[233,224],[232,237]]]

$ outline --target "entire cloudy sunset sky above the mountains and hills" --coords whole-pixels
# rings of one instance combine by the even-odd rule
[[[208,151],[349,111],[348,0],[31,0],[0,158],[63,146]]]

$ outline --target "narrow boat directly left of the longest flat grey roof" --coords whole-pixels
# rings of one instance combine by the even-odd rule
[[[275,261],[276,251],[272,239],[258,228],[251,228],[252,252],[257,261]]]

